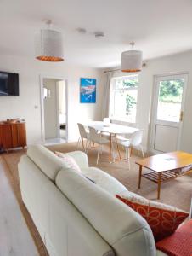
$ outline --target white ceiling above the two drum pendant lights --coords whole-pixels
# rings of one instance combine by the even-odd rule
[[[1,0],[0,54],[34,56],[34,34],[48,19],[63,32],[73,64],[115,67],[130,41],[145,60],[192,49],[191,0]]]

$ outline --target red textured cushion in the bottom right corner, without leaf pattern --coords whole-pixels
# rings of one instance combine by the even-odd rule
[[[158,241],[156,247],[171,256],[192,255],[192,220],[182,224],[172,236]]]

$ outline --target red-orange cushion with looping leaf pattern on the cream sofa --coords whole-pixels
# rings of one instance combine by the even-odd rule
[[[121,195],[116,195],[116,197],[146,219],[153,232],[155,241],[160,241],[170,236],[178,228],[178,225],[189,216],[188,212],[147,200],[129,191]]]

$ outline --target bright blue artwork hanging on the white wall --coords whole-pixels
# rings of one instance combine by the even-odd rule
[[[96,102],[96,79],[80,79],[80,102]]]

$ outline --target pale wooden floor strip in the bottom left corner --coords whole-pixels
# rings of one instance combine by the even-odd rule
[[[39,255],[20,207],[3,171],[0,157],[0,256]]]

